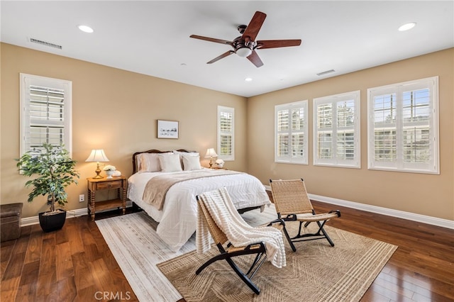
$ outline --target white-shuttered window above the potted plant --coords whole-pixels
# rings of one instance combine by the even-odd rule
[[[20,74],[21,155],[43,142],[65,145],[71,154],[72,82]]]

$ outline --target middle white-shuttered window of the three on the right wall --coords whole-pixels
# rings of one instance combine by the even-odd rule
[[[314,165],[360,168],[360,91],[314,99]]]

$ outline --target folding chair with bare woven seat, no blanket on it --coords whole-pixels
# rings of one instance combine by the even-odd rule
[[[317,240],[326,238],[329,244],[333,247],[334,242],[323,229],[325,223],[332,219],[341,217],[341,211],[334,210],[328,213],[316,214],[312,207],[311,200],[307,195],[306,185],[303,179],[290,179],[290,180],[271,180],[270,186],[272,192],[272,199],[275,203],[277,218],[284,221],[299,221],[298,234],[289,240],[292,250],[295,252],[293,242]],[[303,233],[301,228],[303,223],[307,227],[309,223],[315,222],[319,225],[319,230],[316,233]],[[287,230],[284,225],[284,232],[287,235]]]

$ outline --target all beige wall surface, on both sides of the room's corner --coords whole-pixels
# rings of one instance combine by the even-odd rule
[[[1,44],[1,203],[24,201],[23,217],[45,211],[44,199],[26,203],[26,177],[16,171],[19,156],[19,73],[72,81],[73,157],[81,172],[78,186],[68,190],[69,210],[84,208],[85,179],[95,164],[84,160],[93,148],[104,148],[109,164],[132,172],[131,155],[138,150],[180,147],[203,153],[216,147],[216,107],[236,109],[236,160],[229,169],[248,171],[263,184],[273,178],[306,180],[312,194],[340,198],[400,211],[454,220],[454,49],[394,62],[360,72],[323,79],[245,99],[177,82],[95,65],[67,57]],[[367,88],[439,77],[441,174],[409,174],[367,170]],[[314,167],[309,116],[309,164],[274,162],[274,108],[302,99],[361,91],[361,169]],[[106,118],[106,117],[113,118]],[[156,120],[180,122],[178,140],[156,138]],[[247,129],[248,131],[244,131]],[[268,133],[268,135],[263,135]],[[203,156],[203,155],[202,155]],[[206,164],[206,161],[203,162]]]

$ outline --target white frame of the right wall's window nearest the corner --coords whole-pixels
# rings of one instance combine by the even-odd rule
[[[301,130],[292,130],[292,127],[289,126],[288,130],[279,131],[279,111],[292,111],[292,109],[302,109],[304,111],[304,116],[306,117],[303,121],[304,129]],[[289,112],[289,125],[292,125],[292,114]],[[279,134],[285,134],[289,137],[292,137],[292,133],[303,133],[303,156],[294,157],[292,155],[279,156]],[[275,162],[281,164],[309,164],[309,101],[295,101],[292,103],[279,104],[275,106]],[[293,150],[292,150],[293,151]],[[289,149],[289,153],[291,153]]]

